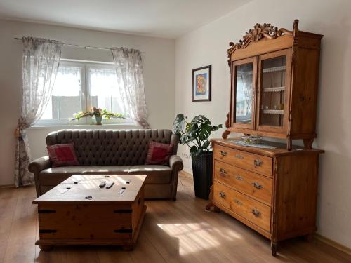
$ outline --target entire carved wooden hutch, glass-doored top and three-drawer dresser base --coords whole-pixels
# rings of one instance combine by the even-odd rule
[[[223,139],[212,140],[213,186],[207,210],[225,213],[277,243],[316,230],[319,154],[316,137],[322,35],[256,24],[228,50],[230,113]],[[230,132],[286,139],[249,147]],[[305,148],[291,140],[303,139]],[[271,147],[271,148],[269,148]],[[274,147],[274,149],[272,149]]]

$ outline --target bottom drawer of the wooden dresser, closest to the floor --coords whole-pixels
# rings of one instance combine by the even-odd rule
[[[213,183],[213,200],[258,227],[270,231],[270,206],[234,191],[219,182]]]

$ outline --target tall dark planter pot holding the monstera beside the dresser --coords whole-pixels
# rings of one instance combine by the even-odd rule
[[[199,155],[192,154],[192,176],[194,177],[195,196],[208,200],[212,186],[213,151]]]

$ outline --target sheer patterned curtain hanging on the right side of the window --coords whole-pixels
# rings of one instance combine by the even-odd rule
[[[116,67],[117,81],[121,93],[124,113],[143,128],[147,123],[143,65],[140,50],[110,48]]]

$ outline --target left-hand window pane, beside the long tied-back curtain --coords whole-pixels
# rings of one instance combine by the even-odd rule
[[[41,119],[71,119],[81,111],[81,68],[60,66],[51,99]]]

